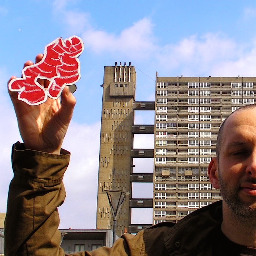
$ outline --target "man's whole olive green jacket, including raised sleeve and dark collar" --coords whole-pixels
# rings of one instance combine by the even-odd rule
[[[65,255],[60,245],[57,207],[65,199],[62,178],[70,153],[53,155],[13,146],[11,181],[5,220],[5,256]],[[139,232],[125,234],[111,248],[72,255],[211,255],[214,234],[222,221],[219,201],[189,214],[176,225],[160,223]]]

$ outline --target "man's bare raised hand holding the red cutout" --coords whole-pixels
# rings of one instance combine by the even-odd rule
[[[37,55],[36,63],[42,58],[43,54]],[[32,61],[27,61],[24,63],[24,67],[33,64]],[[10,80],[15,78],[13,76]],[[48,80],[38,79],[38,82],[44,88],[49,85]],[[76,104],[76,99],[69,91],[68,86],[62,91],[62,103],[59,98],[55,100],[48,97],[46,102],[36,106],[30,106],[18,100],[18,92],[8,91],[25,148],[59,154]]]

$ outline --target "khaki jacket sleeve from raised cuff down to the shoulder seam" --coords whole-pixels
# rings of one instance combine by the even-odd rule
[[[57,207],[65,199],[62,178],[70,153],[53,155],[25,150],[16,143],[12,150],[14,177],[10,183],[5,219],[5,256],[65,255],[60,247]],[[125,234],[112,248],[100,247],[76,256],[145,255],[144,231],[136,236]]]

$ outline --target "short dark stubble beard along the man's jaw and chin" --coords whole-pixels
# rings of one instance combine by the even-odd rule
[[[252,205],[241,200],[241,198],[239,197],[239,188],[231,187],[228,184],[224,183],[220,173],[219,185],[220,193],[222,195],[223,200],[226,202],[226,204],[232,210],[235,216],[239,220],[249,220],[255,222],[256,203],[255,205]]]

